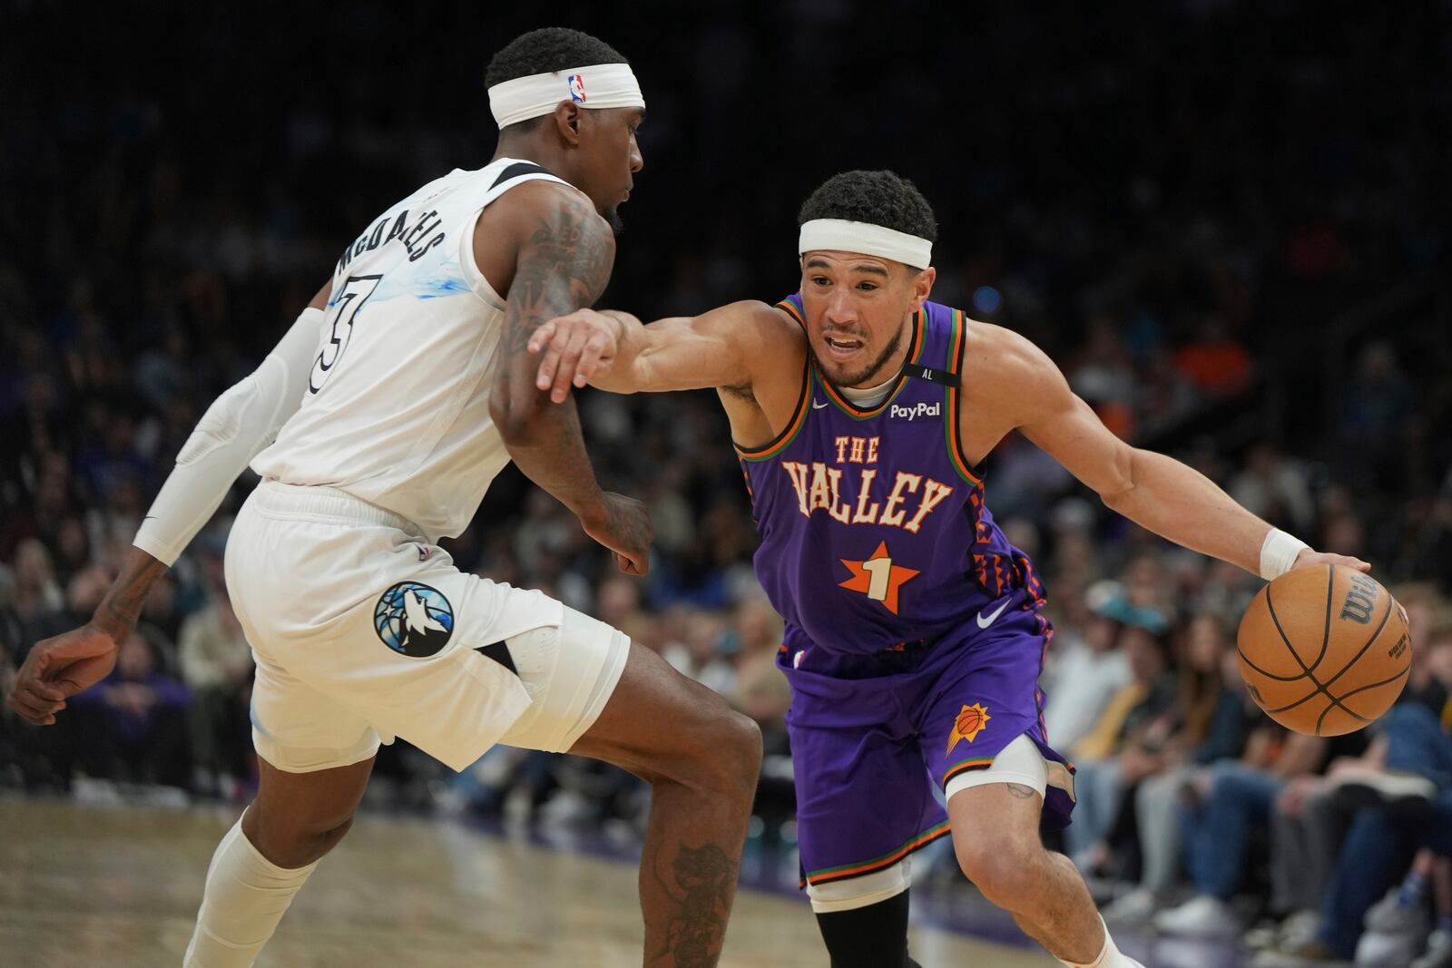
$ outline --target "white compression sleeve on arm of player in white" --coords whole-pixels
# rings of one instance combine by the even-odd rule
[[[322,319],[321,309],[303,309],[261,366],[212,401],[151,502],[132,541],[138,549],[163,565],[176,563],[237,475],[298,412]]]

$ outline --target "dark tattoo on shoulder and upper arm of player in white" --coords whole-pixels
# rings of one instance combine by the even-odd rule
[[[594,305],[610,282],[616,239],[605,222],[576,197],[560,200],[526,242],[504,318],[505,353],[524,353],[540,325]]]

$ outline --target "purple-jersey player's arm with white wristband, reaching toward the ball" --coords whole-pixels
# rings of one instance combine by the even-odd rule
[[[992,396],[1013,408],[1005,425],[1016,427],[1093,488],[1105,505],[1140,527],[1266,578],[1314,563],[1371,569],[1359,559],[1300,544],[1236,504],[1194,467],[1115,437],[1028,340],[996,327],[989,340],[996,351],[993,373],[986,376],[1000,390]]]

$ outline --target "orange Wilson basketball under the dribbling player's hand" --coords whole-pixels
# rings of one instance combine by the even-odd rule
[[[1281,726],[1340,736],[1391,708],[1411,641],[1401,607],[1369,575],[1326,565],[1286,572],[1256,594],[1237,634],[1250,697]]]

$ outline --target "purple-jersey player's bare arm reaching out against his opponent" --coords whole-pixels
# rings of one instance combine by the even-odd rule
[[[562,401],[571,386],[611,393],[749,386],[764,360],[793,351],[799,331],[764,302],[733,302],[700,316],[649,325],[619,309],[582,309],[536,329],[536,386]]]

